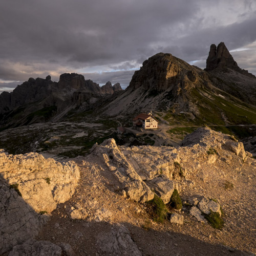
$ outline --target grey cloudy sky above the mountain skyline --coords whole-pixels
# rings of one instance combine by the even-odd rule
[[[256,75],[255,0],[2,0],[0,34],[0,92],[71,72],[125,88],[158,52],[205,68],[221,41]]]

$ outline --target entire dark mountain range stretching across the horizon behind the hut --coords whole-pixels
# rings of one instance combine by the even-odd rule
[[[159,113],[172,124],[231,125],[256,123],[256,77],[242,70],[224,42],[210,46],[206,69],[172,54],[158,53],[135,71],[129,87],[105,86],[79,74],[29,78],[0,95],[0,128],[65,121],[70,111],[119,118]],[[125,121],[124,121],[125,124]]]

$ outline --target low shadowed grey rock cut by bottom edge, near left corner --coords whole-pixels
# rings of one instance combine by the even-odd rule
[[[62,249],[56,244],[48,241],[28,240],[22,245],[16,245],[9,253],[9,256],[30,256],[30,255],[49,255],[61,256]]]

